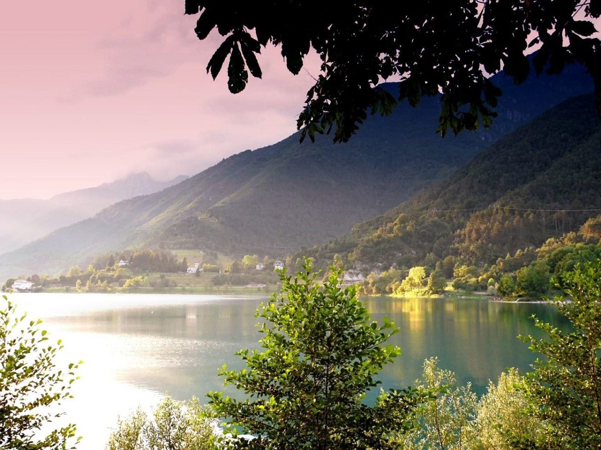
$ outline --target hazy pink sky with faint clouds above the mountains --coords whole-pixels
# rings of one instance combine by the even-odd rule
[[[293,133],[311,77],[268,48],[263,79],[232,95],[205,69],[222,38],[198,41],[196,20],[183,0],[2,5],[0,199],[193,175]]]

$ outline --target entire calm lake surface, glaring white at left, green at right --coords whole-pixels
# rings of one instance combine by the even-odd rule
[[[257,347],[254,312],[266,297],[210,295],[11,294],[10,300],[44,320],[52,341],[63,340],[58,365],[84,360],[64,403],[67,419],[84,436],[80,450],[103,449],[117,415],[150,408],[169,392],[178,400],[224,390],[217,370],[242,368],[236,350]],[[391,339],[403,354],[382,371],[384,388],[410,385],[425,358],[471,381],[481,394],[507,367],[528,370],[535,355],[518,334],[538,334],[529,318],[560,326],[566,320],[545,304],[485,299],[365,298],[372,319],[390,317]],[[228,391],[233,393],[231,389]]]

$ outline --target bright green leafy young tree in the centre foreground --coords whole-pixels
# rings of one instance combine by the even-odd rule
[[[323,285],[310,260],[294,278],[282,271],[281,295],[257,310],[263,351],[240,350],[248,369],[220,371],[246,398],[209,392],[209,403],[231,430],[257,436],[232,440],[234,448],[384,449],[407,423],[415,392],[382,393],[375,406],[363,401],[400,353],[384,346],[397,330],[388,320],[371,322],[355,287],[342,289],[341,271],[331,270]]]

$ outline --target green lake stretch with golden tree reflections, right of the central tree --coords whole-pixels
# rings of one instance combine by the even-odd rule
[[[506,367],[528,370],[535,355],[517,340],[536,334],[530,317],[567,326],[552,305],[502,304],[486,300],[444,298],[366,298],[374,320],[389,316],[400,328],[391,344],[403,354],[383,370],[383,385],[406,386],[421,375],[421,364],[438,356],[440,367],[456,373],[457,381],[471,381],[485,391]]]

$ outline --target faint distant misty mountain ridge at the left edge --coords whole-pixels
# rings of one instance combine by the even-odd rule
[[[160,191],[186,178],[157,181],[148,173],[133,173],[111,183],[58,194],[47,200],[0,200],[0,210],[4,213],[0,222],[0,253],[92,217],[113,203]]]

